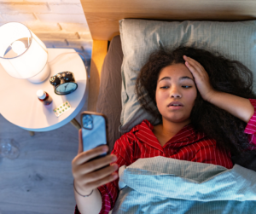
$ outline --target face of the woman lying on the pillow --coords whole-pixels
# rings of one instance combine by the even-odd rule
[[[160,71],[155,101],[163,120],[166,119],[173,123],[189,122],[196,95],[194,77],[184,64],[173,64]],[[183,107],[171,109],[168,105],[172,101],[180,101]]]

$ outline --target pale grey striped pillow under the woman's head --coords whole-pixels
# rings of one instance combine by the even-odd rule
[[[142,123],[143,119],[148,119],[151,124],[154,122],[154,118],[137,101],[135,84],[148,56],[160,47],[172,49],[184,44],[199,49],[217,50],[230,60],[241,61],[256,74],[256,20],[170,22],[123,19],[119,20],[119,32],[124,53],[119,125],[119,132],[122,134]],[[255,86],[254,82],[254,92]],[[153,101],[150,105],[156,108]],[[157,120],[153,125],[159,123]]]

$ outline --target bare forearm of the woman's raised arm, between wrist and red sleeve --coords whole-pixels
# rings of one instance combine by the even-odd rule
[[[215,91],[211,99],[207,100],[214,106],[224,109],[236,118],[248,123],[254,113],[254,107],[249,99],[236,95]]]

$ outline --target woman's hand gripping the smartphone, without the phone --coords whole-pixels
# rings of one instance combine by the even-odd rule
[[[108,182],[113,182],[118,178],[118,173],[114,172],[117,171],[118,165],[109,165],[116,161],[116,156],[114,154],[109,154],[105,157],[94,159],[88,162],[90,159],[93,159],[102,153],[107,153],[108,150],[105,152],[102,151],[103,147],[108,148],[108,145],[95,147],[86,152],[83,152],[82,130],[79,130],[79,153],[72,161],[74,185],[79,194],[90,194],[91,190],[96,189]],[[97,169],[107,165],[108,167],[96,171]]]

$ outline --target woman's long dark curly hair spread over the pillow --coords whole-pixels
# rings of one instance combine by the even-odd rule
[[[139,72],[135,89],[137,98],[139,98],[137,100],[155,120],[162,123],[162,116],[154,101],[160,71],[173,64],[185,65],[183,55],[198,61],[205,68],[214,90],[247,99],[256,99],[253,93],[253,72],[240,61],[230,61],[218,51],[183,45],[176,49],[157,49],[149,55],[148,61]],[[152,101],[155,108],[148,105]],[[244,133],[247,123],[210,102],[204,101],[198,90],[190,119],[195,130],[202,131],[208,137],[215,139],[217,147],[230,151],[231,156],[248,153],[256,155],[256,147],[248,143],[248,135]]]

